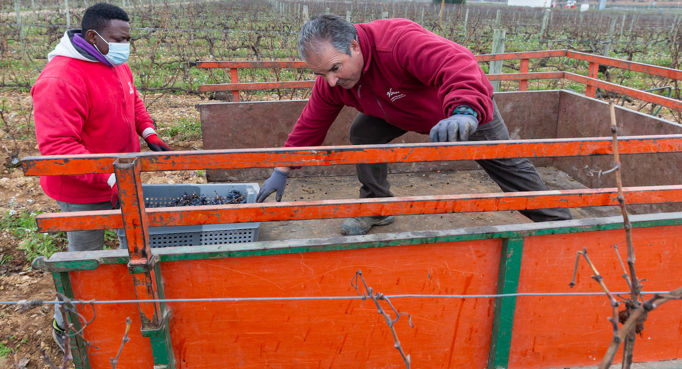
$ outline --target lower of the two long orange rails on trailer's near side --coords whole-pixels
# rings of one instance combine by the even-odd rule
[[[682,202],[682,185],[623,188],[625,203]],[[348,200],[293,201],[147,209],[149,226],[179,226],[273,220],[351,218],[356,216],[505,211],[548,207],[618,205],[616,188],[406,196]],[[121,228],[118,210],[42,213],[35,217],[40,232]]]

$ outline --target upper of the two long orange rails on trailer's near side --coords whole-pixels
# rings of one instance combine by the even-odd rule
[[[682,151],[682,134],[619,137],[619,153]],[[610,155],[611,137],[550,138],[488,141],[486,143],[412,143],[399,145],[340,145],[166,151],[163,153],[106,153],[87,156],[27,156],[24,175],[113,173],[117,158],[138,158],[142,171],[263,168],[358,164],[368,162],[428,162],[493,158],[546,158]]]

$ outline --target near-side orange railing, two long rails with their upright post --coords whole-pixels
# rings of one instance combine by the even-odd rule
[[[264,166],[318,166],[366,162],[418,162],[550,156],[593,156],[612,152],[611,138],[555,138],[486,143],[409,145],[350,145],[336,147],[174,151],[165,153],[38,156],[23,160],[25,175],[111,173],[119,181],[121,210],[52,213],[38,216],[45,231],[126,228],[131,254],[149,255],[148,226],[175,226],[224,222],[346,218],[353,216],[499,211],[545,207],[615,205],[613,188],[464,194],[406,198],[327,200],[295,203],[217,205],[175,209],[145,209],[140,184],[143,171]],[[682,135],[632,136],[619,141],[620,153],[682,151]],[[134,183],[134,184],[131,184]],[[632,204],[682,201],[682,186],[628,188]],[[194,210],[197,209],[197,210]],[[130,233],[130,234],[128,234]],[[143,250],[145,250],[143,252]]]

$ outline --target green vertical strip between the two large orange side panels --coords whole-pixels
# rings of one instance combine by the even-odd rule
[[[523,239],[505,239],[503,241],[500,252],[500,272],[497,277],[497,293],[516,293],[518,291],[523,241]],[[516,312],[516,297],[497,297],[495,299],[488,369],[506,369],[509,365],[514,312]]]

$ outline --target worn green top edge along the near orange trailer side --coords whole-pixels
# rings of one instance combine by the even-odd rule
[[[677,214],[677,213],[676,213]],[[613,217],[617,218],[617,217]],[[633,217],[634,218],[634,217]],[[580,224],[582,220],[563,221],[574,222],[571,226],[563,226],[557,228],[535,228],[533,223],[528,224],[511,224],[509,226],[481,226],[473,228],[463,228],[465,232],[460,234],[443,235],[443,233],[451,232],[445,231],[419,231],[413,233],[392,233],[387,235],[372,235],[374,239],[369,241],[352,242],[346,241],[346,237],[330,237],[325,239],[306,239],[306,240],[292,240],[292,241],[260,241],[254,243],[233,243],[228,245],[211,245],[211,246],[183,246],[170,249],[153,250],[155,254],[160,257],[160,261],[191,261],[191,260],[205,260],[205,259],[224,259],[246,256],[266,256],[266,255],[280,255],[280,254],[298,254],[304,252],[323,252],[336,250],[358,250],[364,248],[380,248],[390,246],[409,246],[423,243],[442,243],[454,241],[475,241],[479,239],[522,239],[524,237],[542,236],[542,235],[560,235],[566,233],[582,233],[592,231],[611,231],[615,229],[622,229],[623,223],[612,221],[610,223],[602,224]],[[577,223],[577,224],[576,224]],[[671,226],[682,224],[682,218],[668,218],[662,220],[643,220],[634,221],[633,228],[651,227],[651,226]],[[507,229],[520,228],[520,230]],[[499,228],[504,228],[504,231],[496,231]],[[524,229],[531,228],[531,229]],[[456,230],[459,231],[459,230]],[[432,235],[432,236],[431,236]],[[366,236],[360,236],[366,237]],[[381,239],[381,237],[389,239]],[[392,238],[391,238],[392,237]],[[400,238],[398,238],[400,237]],[[314,245],[314,241],[321,241],[322,244]],[[305,246],[301,243],[305,242]],[[287,244],[291,246],[287,247]],[[241,250],[235,250],[241,248]],[[232,250],[231,250],[232,249]],[[123,250],[125,251],[125,250]],[[106,252],[106,251],[105,251]],[[108,252],[121,252],[121,250],[109,250]],[[69,260],[71,256],[69,253],[60,253],[59,259],[55,261],[46,261],[44,269],[48,271],[55,271],[52,266],[59,268],[59,271],[78,271],[84,265],[83,259]],[[98,262],[101,265],[122,264],[128,263],[130,260],[127,256],[111,255],[102,256],[98,254]],[[54,257],[54,256],[53,256]],[[95,258],[92,258],[95,259]],[[86,259],[87,260],[87,259]],[[89,270],[89,269],[88,269]]]

